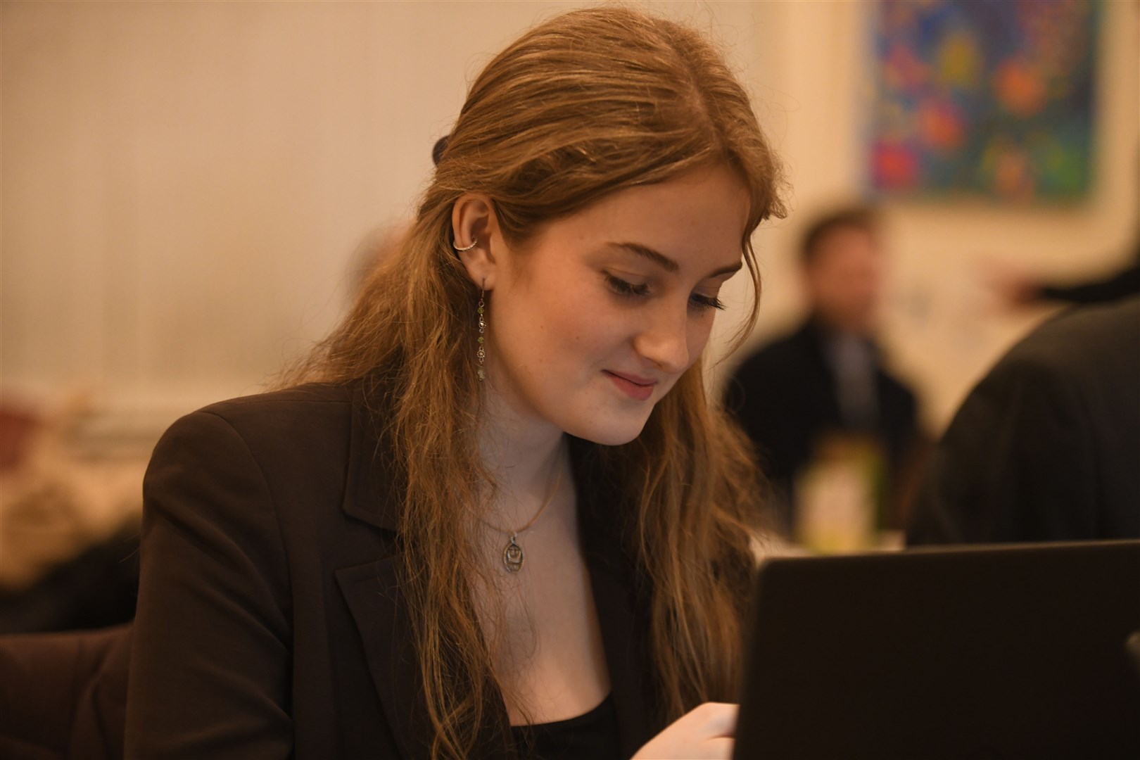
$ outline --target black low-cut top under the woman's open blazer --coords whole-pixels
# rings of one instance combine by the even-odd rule
[[[576,760],[577,758],[620,758],[618,711],[613,696],[606,695],[589,712],[532,726],[512,726],[519,754],[534,760]]]

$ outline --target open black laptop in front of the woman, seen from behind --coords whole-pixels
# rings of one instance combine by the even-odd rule
[[[751,614],[739,760],[1140,758],[1140,540],[775,558]]]

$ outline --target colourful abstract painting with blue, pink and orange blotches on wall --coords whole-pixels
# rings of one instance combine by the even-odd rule
[[[876,13],[876,190],[1012,202],[1088,193],[1097,2],[883,0]]]

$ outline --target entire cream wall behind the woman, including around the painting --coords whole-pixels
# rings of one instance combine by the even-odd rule
[[[165,420],[256,391],[335,321],[353,248],[408,213],[466,82],[522,28],[575,5],[0,6],[0,393],[87,389],[113,412]],[[872,6],[646,5],[726,42],[788,163],[793,213],[757,238],[757,336],[769,335],[799,309],[791,252],[804,220],[861,191]],[[1137,3],[1105,10],[1088,203],[888,209],[888,342],[931,427],[1028,324],[977,316],[975,259],[1075,275],[1125,253]]]

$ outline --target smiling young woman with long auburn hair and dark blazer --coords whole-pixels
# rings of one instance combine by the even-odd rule
[[[779,177],[683,26],[496,57],[292,387],[156,448],[128,755],[728,757],[760,508],[700,357]]]

